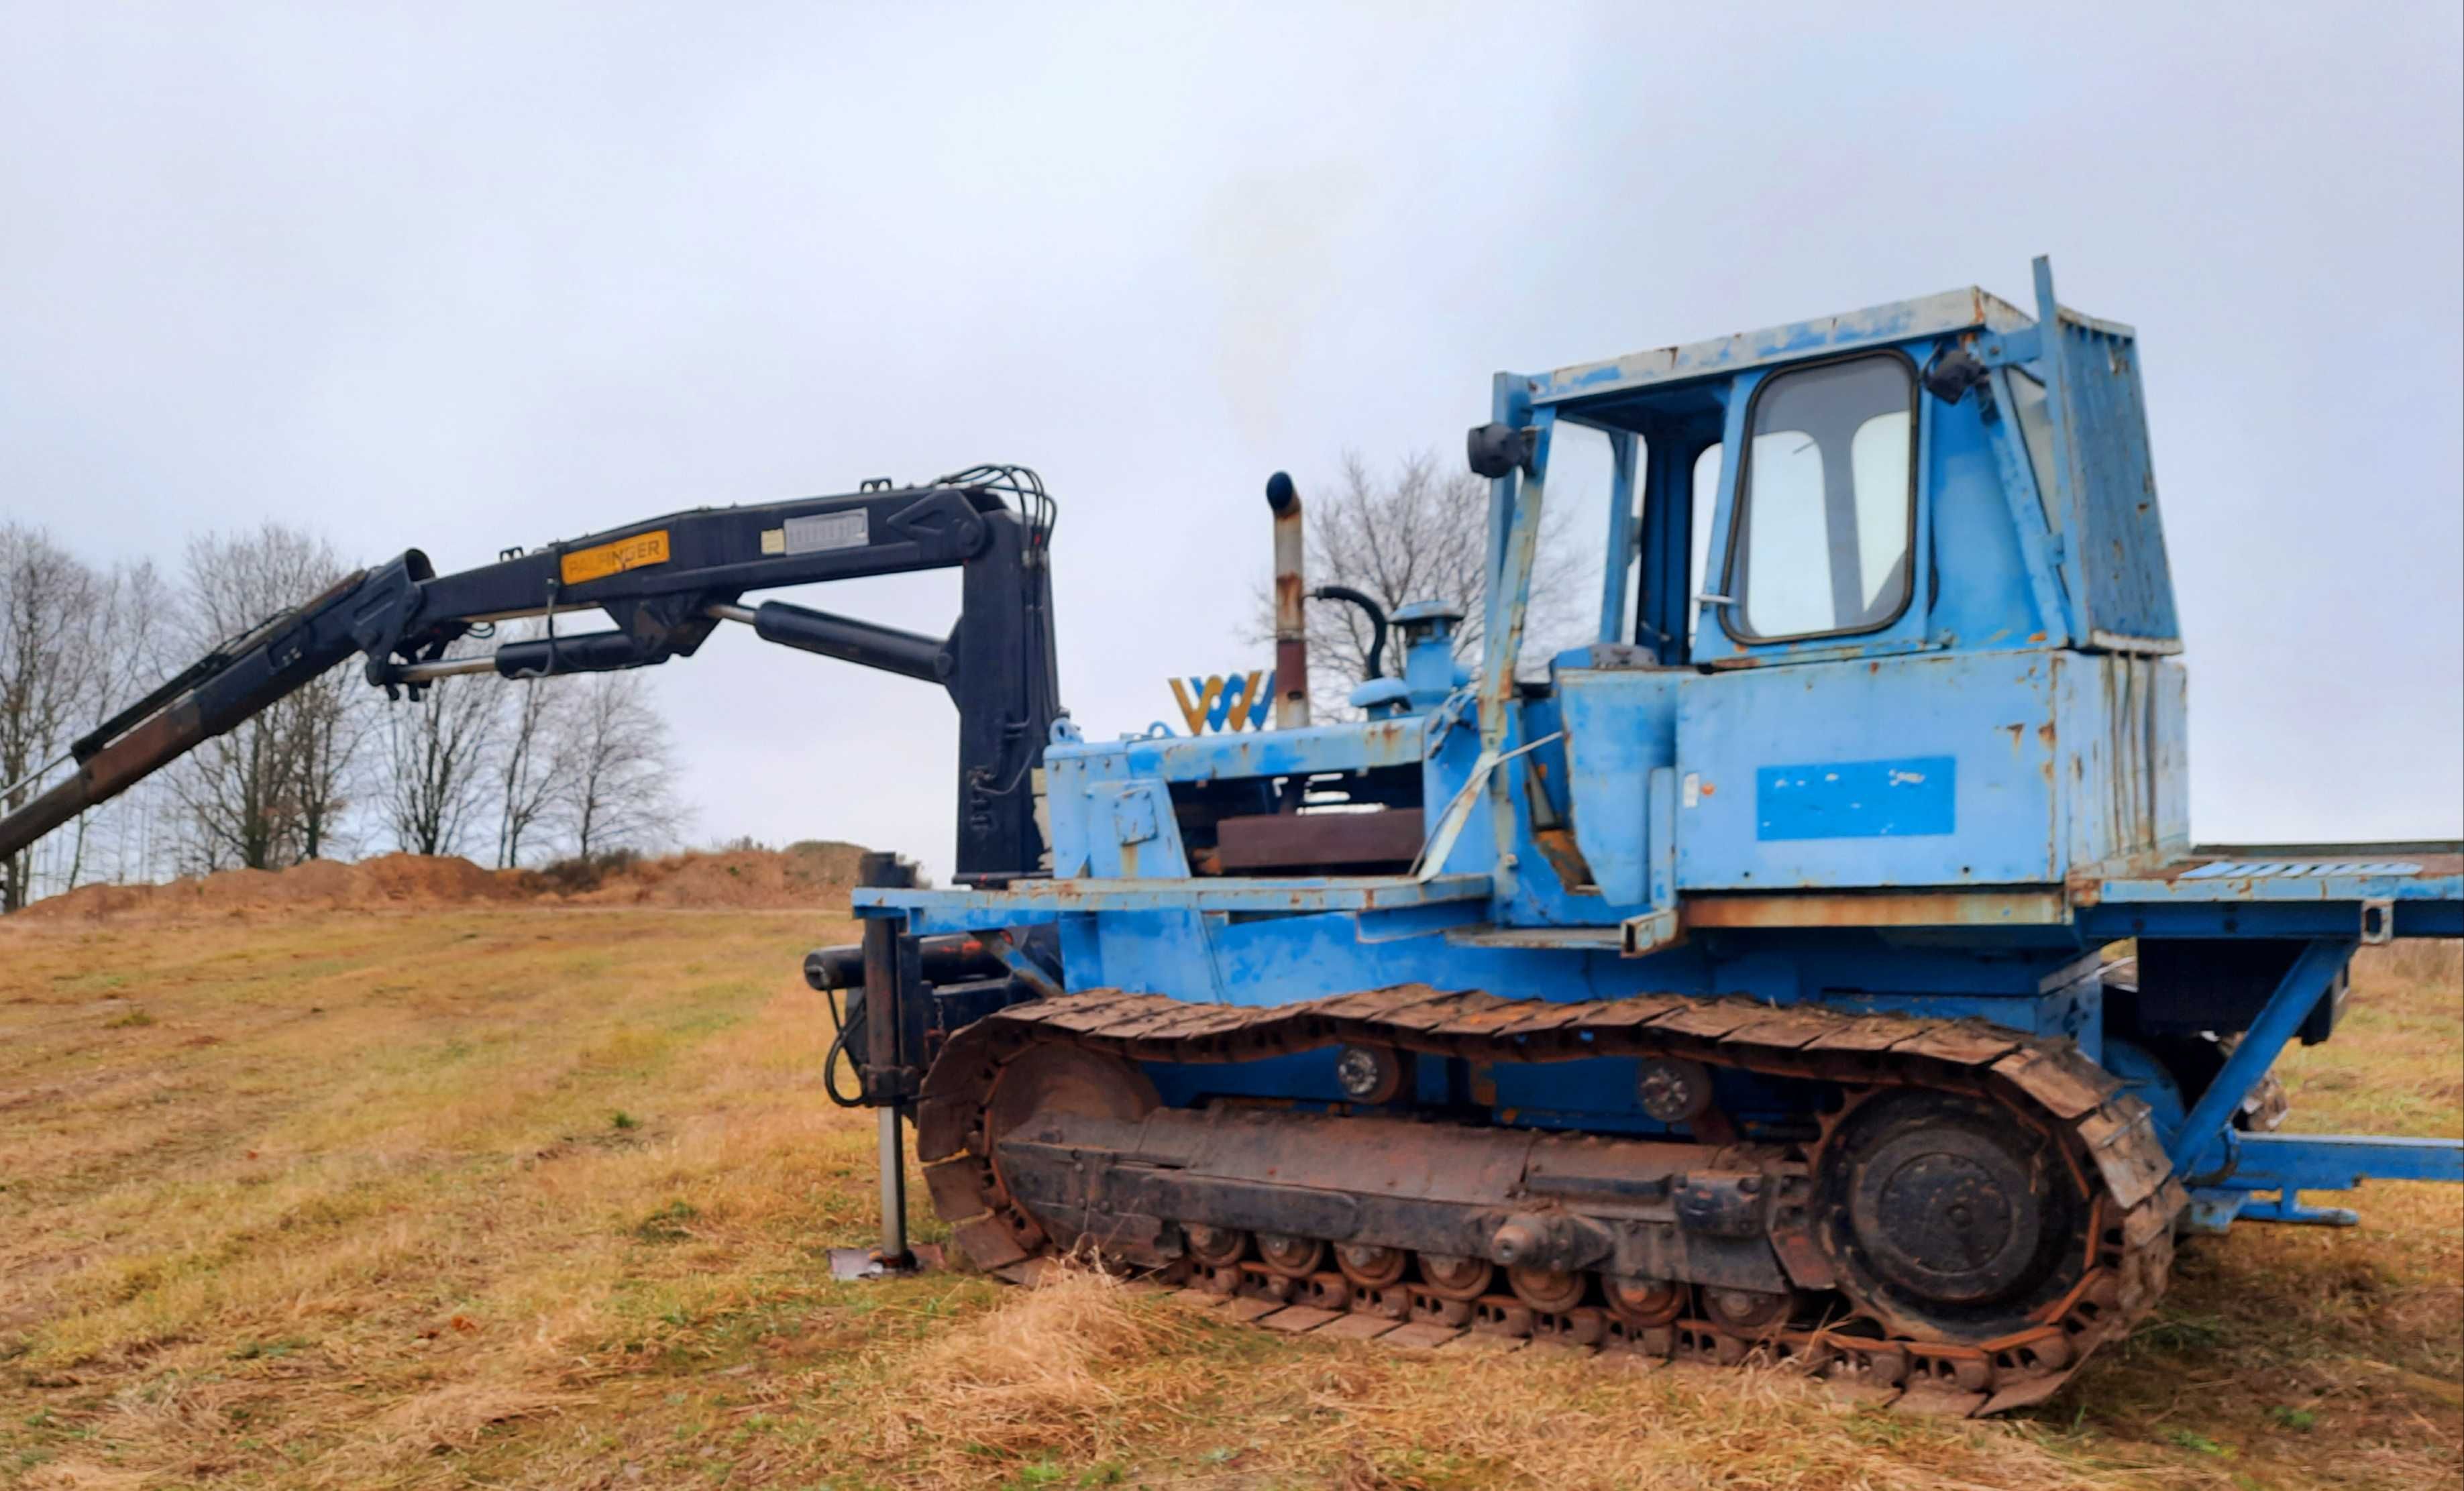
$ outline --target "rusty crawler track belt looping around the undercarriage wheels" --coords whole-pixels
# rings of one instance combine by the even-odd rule
[[[1774,1077],[1850,1089],[1919,1087],[1984,1097],[2060,1144],[2092,1203],[2092,1259],[2080,1284],[2040,1311],[2040,1326],[1981,1343],[1922,1338],[1919,1331],[1764,1331],[1737,1336],[1710,1321],[1626,1326],[1599,1309],[1533,1311],[1510,1296],[1478,1301],[1478,1331],[1555,1338],[1570,1346],[1737,1365],[1784,1360],[1860,1395],[1949,1415],[1991,1415],[2040,1402],[2087,1355],[2144,1318],[2173,1264],[2173,1217],[2186,1193],[2171,1176],[2146,1104],[2062,1040],[1984,1020],[1858,1015],[1747,998],[1634,996],[1545,1003],[1419,983],[1291,1006],[1202,1006],[1148,993],[1089,991],[1030,1001],[956,1033],[924,1079],[917,1156],[934,1210],[951,1222],[976,1267],[1030,1277],[1052,1257],[1042,1227],[1008,1200],[993,1176],[983,1104],[1000,1065],[1035,1042],[1069,1042],[1133,1062],[1242,1062],[1333,1042],[1380,1042],[1473,1062],[1547,1062],[1604,1055],[1676,1055]],[[1454,1326],[1345,1318],[1311,1309],[1266,1282],[1266,1299],[1234,1299],[1242,1318],[1284,1331],[1434,1346]],[[1244,1291],[1247,1294],[1247,1291]],[[1340,1294],[1340,1291],[1338,1291]],[[1353,1301],[1355,1311],[1372,1309]],[[1338,1323],[1340,1321],[1340,1323]],[[1870,1331],[1875,1323],[1863,1323]]]

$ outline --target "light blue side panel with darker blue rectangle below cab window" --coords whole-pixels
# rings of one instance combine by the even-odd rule
[[[1678,890],[2062,877],[2048,653],[1685,675]]]

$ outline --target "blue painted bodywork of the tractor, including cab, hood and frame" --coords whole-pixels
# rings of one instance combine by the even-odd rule
[[[1402,678],[1358,697],[1368,720],[1114,742],[1062,722],[1040,786],[1047,880],[860,890],[857,912],[917,932],[1055,924],[1069,988],[1222,1003],[1414,981],[1533,1001],[1668,991],[2062,1035],[2149,1102],[2176,1168],[2200,1180],[2193,1225],[2333,1220],[2299,1193],[2365,1176],[2464,1178],[2454,1144],[2230,1126],[2356,941],[2464,934],[2464,850],[2190,848],[2188,685],[2136,338],[2060,308],[2043,266],[2035,308],[1954,291],[1498,375],[1491,419],[1530,431],[1533,453],[1491,481],[1478,678],[1451,651],[1451,606],[1473,596],[1432,596],[1397,609]],[[1732,636],[1722,564],[1762,380],[1848,352],[1924,370],[1956,350],[1991,375],[1917,402],[1905,614],[1863,636]],[[1515,680],[1560,421],[1609,436],[1599,636]],[[1712,441],[1705,520],[1693,463]],[[1698,537],[1708,599],[1690,594]],[[1193,872],[1217,813],[1313,811],[1355,789],[1350,806],[1402,794],[1422,811],[1412,872]],[[2161,1023],[2173,998],[2107,1001],[2099,949],[2124,936],[2309,946],[2272,993],[2252,991],[2259,1013],[2186,1102],[2161,1042],[2107,1028],[2114,1010]],[[1239,1082],[1335,1102],[1331,1067],[1311,1062],[1156,1082],[1173,1099]],[[1429,1067],[1454,1084],[1439,1097],[1503,1124],[1656,1131],[1616,1062]],[[1722,1094],[1754,1121],[1816,1099]]]

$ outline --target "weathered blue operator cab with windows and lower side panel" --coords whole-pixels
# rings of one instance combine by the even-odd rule
[[[2033,320],[1969,288],[1501,375],[1471,456],[1498,552],[1538,532],[1523,574],[1493,567],[1535,626],[1518,813],[1542,850],[1503,919],[2043,890],[2186,845],[2136,340],[2057,308],[2043,261]],[[1597,626],[1552,636],[1582,547]],[[1646,850],[1656,771],[1673,823]]]

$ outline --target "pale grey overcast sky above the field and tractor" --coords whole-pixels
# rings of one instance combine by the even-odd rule
[[[2141,333],[2195,833],[2454,835],[2459,10],[2057,10],[0,0],[0,510],[453,569],[1018,461],[1109,737],[1266,663],[1269,471],[2053,254]],[[939,690],[729,628],[655,693],[697,838],[946,872]]]

